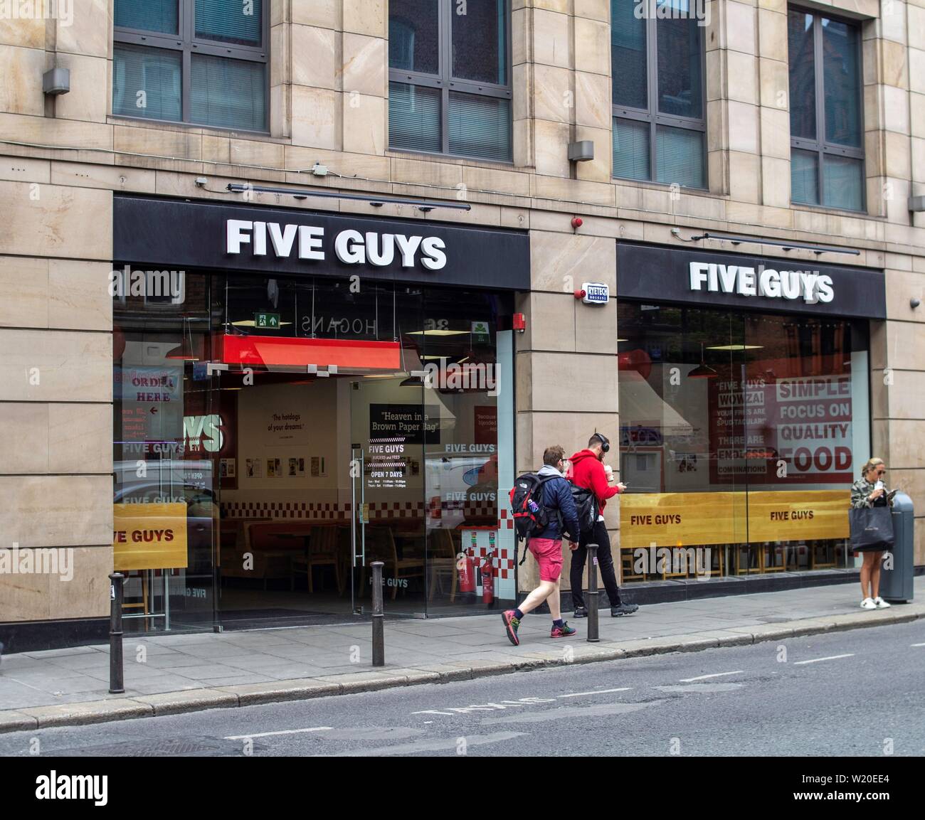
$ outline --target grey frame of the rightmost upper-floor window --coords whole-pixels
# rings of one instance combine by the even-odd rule
[[[807,137],[795,137],[793,131],[790,134],[791,162],[793,162],[793,151],[806,151],[815,153],[817,160],[816,188],[819,191],[819,202],[799,202],[794,200],[793,183],[790,188],[790,204],[807,208],[822,208],[827,211],[845,211],[849,214],[867,213],[867,157],[864,151],[864,141],[866,131],[864,129],[864,32],[857,20],[838,17],[837,15],[817,11],[804,6],[788,5],[787,15],[791,12],[798,14],[808,14],[812,16],[812,33],[813,33],[813,88],[816,92],[816,139],[810,140]],[[836,23],[842,23],[851,26],[857,31],[857,121],[861,127],[861,144],[859,148],[850,145],[842,145],[838,142],[829,142],[825,138],[825,63],[822,47],[822,18],[832,20]],[[787,79],[790,79],[790,55],[787,55]],[[789,94],[789,86],[788,86]],[[789,102],[789,101],[788,101]],[[789,113],[789,112],[788,112]],[[825,157],[842,156],[848,159],[859,159],[861,161],[861,204],[860,208],[849,208],[846,205],[829,205],[824,201],[825,188]]]

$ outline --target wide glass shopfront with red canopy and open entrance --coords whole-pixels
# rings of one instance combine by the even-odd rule
[[[125,271],[114,548],[130,624],[342,620],[369,611],[374,560],[391,614],[482,609],[489,575],[512,601],[510,295],[217,272],[155,294]]]

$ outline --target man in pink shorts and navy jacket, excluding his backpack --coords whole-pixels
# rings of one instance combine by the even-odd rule
[[[549,524],[543,532],[530,536],[527,543],[530,552],[539,564],[539,586],[526,596],[524,603],[516,609],[508,609],[501,613],[504,620],[504,629],[508,633],[508,640],[517,646],[520,639],[517,629],[521,619],[526,613],[544,601],[549,602],[549,612],[552,615],[552,630],[550,638],[563,638],[573,635],[572,629],[561,618],[559,585],[562,574],[562,532],[577,534],[578,511],[572,499],[572,488],[562,476],[561,468],[565,458],[563,447],[547,447],[543,453],[543,466],[537,473],[543,479],[542,494],[543,507],[549,513]]]

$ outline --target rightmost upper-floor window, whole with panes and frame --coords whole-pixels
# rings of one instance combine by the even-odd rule
[[[864,208],[861,36],[856,25],[791,8],[790,199]]]

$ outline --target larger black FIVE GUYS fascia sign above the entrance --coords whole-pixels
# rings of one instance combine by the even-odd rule
[[[117,263],[530,289],[524,231],[140,196],[113,220]]]

